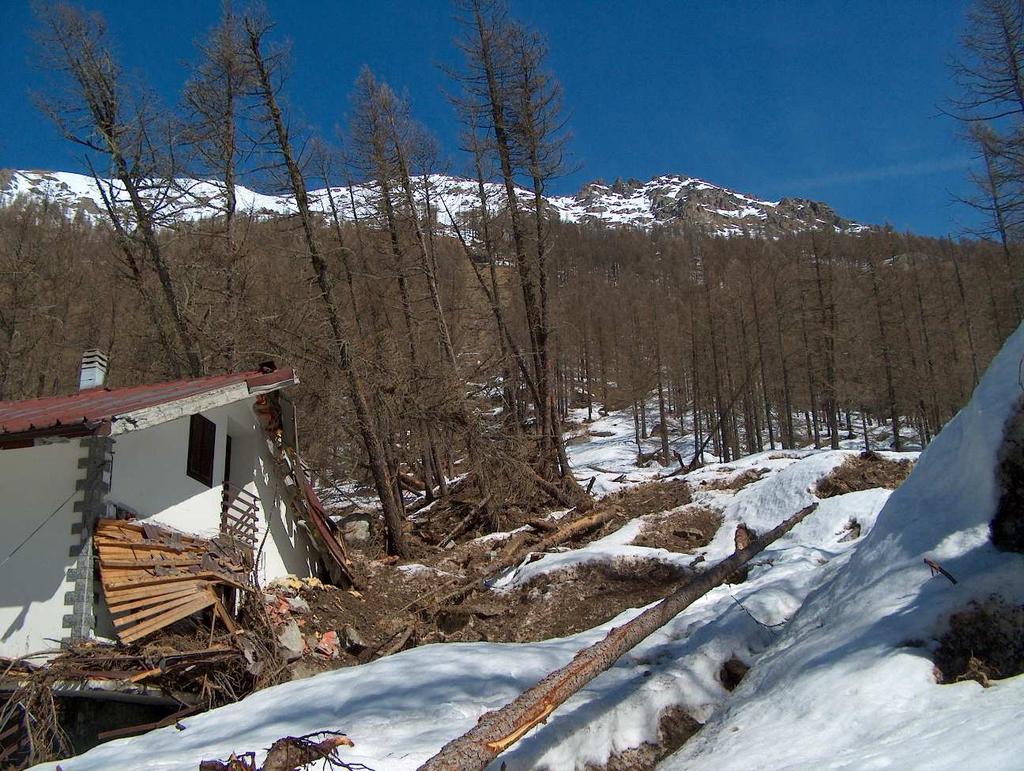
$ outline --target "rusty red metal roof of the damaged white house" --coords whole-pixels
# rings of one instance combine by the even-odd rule
[[[249,392],[254,393],[280,388],[294,380],[295,371],[290,368],[271,372],[253,370],[125,388],[90,388],[68,396],[0,401],[0,440],[103,434],[118,416],[137,410],[169,404],[232,385],[245,384]]]

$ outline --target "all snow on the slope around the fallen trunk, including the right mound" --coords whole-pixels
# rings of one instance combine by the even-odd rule
[[[1008,418],[1024,397],[1022,362],[1024,327],[898,490],[821,501],[759,556],[745,583],[720,587],[680,613],[494,768],[502,762],[515,769],[603,764],[616,752],[656,740],[658,717],[671,706],[707,725],[662,763],[668,771],[1020,768],[1024,676],[987,689],[973,681],[939,685],[932,653],[950,614],[972,600],[998,593],[1024,602],[1024,556],[996,551],[988,536],[998,496],[997,454]],[[620,419],[625,416],[609,416],[607,425]],[[613,438],[570,444],[573,463],[625,468],[627,456],[610,444]],[[815,500],[816,481],[851,455],[776,451],[712,464],[686,477],[694,490],[688,506],[714,509],[723,520],[718,536],[696,553],[633,544],[642,524],[634,520],[579,549],[526,559],[494,589],[601,560],[714,564],[731,551],[737,522],[759,530],[777,523]],[[760,475],[756,481],[738,489],[728,484],[752,470]],[[656,473],[625,471],[630,477]],[[846,527],[851,518],[861,532],[853,540]],[[932,576],[926,557],[958,583]],[[183,730],[109,742],[60,765],[67,771],[194,769],[204,758],[259,754],[283,735],[332,729],[355,742],[344,752],[347,761],[414,769],[483,712],[511,700],[637,612],[539,643],[415,648],[267,689],[187,718]],[[733,656],[753,667],[730,693],[720,672]]]

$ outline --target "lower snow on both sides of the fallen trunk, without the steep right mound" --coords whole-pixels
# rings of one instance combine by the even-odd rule
[[[581,458],[610,462],[601,449],[574,444]],[[630,439],[631,440],[631,439]],[[722,538],[697,553],[681,554],[632,545],[642,522],[568,552],[524,560],[495,589],[522,584],[543,572],[574,564],[657,560],[689,566],[727,556],[740,520],[763,529],[814,500],[815,482],[853,452],[772,452],[713,464],[689,475],[689,506],[721,513]],[[913,457],[912,455],[909,457]],[[733,489],[719,483],[758,470],[763,476]],[[763,471],[762,471],[763,470]],[[641,471],[636,469],[636,472]],[[634,472],[630,473],[634,476]],[[707,484],[701,484],[707,482]],[[858,541],[845,538],[856,518],[871,527],[889,490],[871,489],[829,498],[814,515],[763,553],[742,585],[720,587],[627,654],[611,670],[569,699],[546,725],[532,731],[500,761],[509,768],[573,769],[603,764],[613,753],[657,739],[658,718],[680,706],[697,720],[727,702],[722,665],[736,656],[756,662],[796,610],[841,570]],[[650,517],[658,517],[653,514]],[[66,771],[111,768],[195,769],[199,761],[231,752],[261,754],[283,735],[332,729],[355,742],[343,758],[378,771],[415,769],[477,718],[515,697],[574,653],[633,617],[627,610],[582,634],[531,644],[439,644],[415,648],[373,663],[326,673],[256,693],[244,701],[184,719],[174,727],[103,744],[60,762]],[[53,768],[53,765],[47,768]],[[495,764],[495,768],[500,763]]]

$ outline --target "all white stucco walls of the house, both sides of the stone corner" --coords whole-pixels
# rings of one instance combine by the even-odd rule
[[[185,474],[187,417],[115,437],[106,502],[135,511],[142,520],[200,536],[216,536],[225,437],[229,433],[231,480],[261,502],[257,536],[257,546],[263,544],[260,580],[265,583],[288,573],[313,574],[317,554],[309,536],[282,500],[266,442],[252,412],[253,401],[247,399],[203,413],[216,425],[212,487]],[[74,589],[74,584],[67,581],[67,572],[76,563],[69,551],[80,543],[80,537],[72,533],[72,525],[81,522],[81,514],[74,511],[74,504],[82,500],[76,481],[84,476],[79,459],[85,457],[86,448],[79,439],[0,449],[0,560],[57,510],[0,567],[0,655],[53,649],[67,634],[62,620],[72,608],[65,605],[65,595]],[[97,633],[113,635],[102,603],[96,611]]]

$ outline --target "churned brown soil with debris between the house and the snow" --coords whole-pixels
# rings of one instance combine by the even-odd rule
[[[689,501],[689,487],[675,479],[650,482],[609,496],[600,501],[598,507],[612,509],[615,516],[601,528],[581,533],[565,546],[583,546],[635,517],[671,512]],[[450,529],[454,526],[452,522],[458,519],[455,510],[456,506],[447,505],[441,510],[443,513],[431,511],[424,515],[418,532],[422,536]],[[442,522],[428,521],[435,516]],[[561,527],[582,516],[586,515],[573,512],[562,519],[551,520],[550,525]],[[522,522],[530,520],[543,520],[543,514],[522,514]],[[510,522],[508,526],[515,524]],[[712,512],[687,508],[657,518],[645,528],[638,543],[688,551],[708,543],[718,524]],[[309,652],[292,665],[293,673],[306,676],[359,663],[381,652],[433,642],[527,642],[564,637],[603,624],[627,608],[642,607],[658,600],[687,575],[680,568],[656,561],[601,562],[542,576],[507,594],[479,591],[471,593],[459,605],[436,612],[422,609],[422,606],[431,605],[428,597],[440,596],[474,575],[482,574],[506,553],[525,553],[531,544],[548,534],[549,530],[535,529],[510,539],[479,543],[473,541],[476,533],[471,530],[459,539],[461,543],[445,550],[418,541],[416,556],[411,561],[432,568],[430,571],[399,570],[393,564],[371,559],[368,553],[375,553],[373,545],[368,545],[365,551],[353,552],[357,592],[315,585],[302,585],[297,590],[310,610],[287,615],[299,624]],[[345,650],[342,647],[336,657],[312,652],[326,632],[334,630],[340,635],[345,625],[356,630],[365,648]]]

